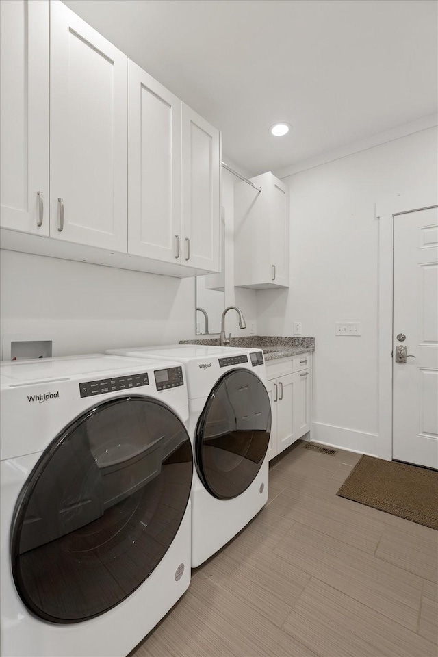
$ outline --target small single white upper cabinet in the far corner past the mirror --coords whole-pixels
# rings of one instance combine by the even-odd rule
[[[289,287],[289,191],[270,171],[235,185],[236,287]]]

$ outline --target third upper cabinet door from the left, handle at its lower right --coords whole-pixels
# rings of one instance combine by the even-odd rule
[[[181,101],[128,62],[128,253],[181,261]]]

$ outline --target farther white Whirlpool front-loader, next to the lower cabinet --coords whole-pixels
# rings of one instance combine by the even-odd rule
[[[217,552],[268,500],[271,408],[263,352],[190,344],[112,350],[185,366],[192,486],[192,567]]]

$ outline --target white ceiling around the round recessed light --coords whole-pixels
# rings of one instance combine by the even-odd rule
[[[251,175],[437,112],[436,0],[64,0]],[[274,138],[287,121],[290,136]]]

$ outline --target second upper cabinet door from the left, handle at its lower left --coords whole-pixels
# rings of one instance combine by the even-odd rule
[[[126,253],[127,57],[50,8],[51,237]]]

